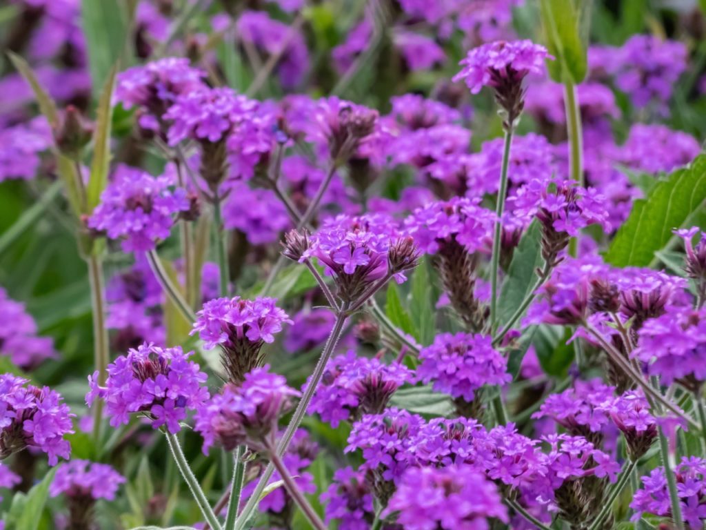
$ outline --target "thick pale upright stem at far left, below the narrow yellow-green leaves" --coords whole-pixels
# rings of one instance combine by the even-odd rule
[[[93,362],[98,371],[98,384],[105,383],[109,361],[108,330],[105,327],[105,285],[103,262],[91,253],[86,257],[88,278],[90,281],[91,309],[93,313]],[[93,433],[100,438],[103,413],[102,399],[97,399],[93,413]]]

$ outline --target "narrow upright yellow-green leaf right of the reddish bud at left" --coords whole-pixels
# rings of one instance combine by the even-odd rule
[[[90,214],[99,201],[100,194],[108,185],[108,168],[110,165],[110,134],[113,122],[113,88],[117,66],[113,66],[103,86],[96,111],[95,132],[93,133],[93,158],[90,165],[90,179],[86,190],[86,211]]]

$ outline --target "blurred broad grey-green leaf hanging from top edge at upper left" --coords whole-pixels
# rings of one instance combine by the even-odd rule
[[[86,38],[93,93],[104,85],[110,68],[123,52],[127,16],[119,0],[81,0],[81,25]]]

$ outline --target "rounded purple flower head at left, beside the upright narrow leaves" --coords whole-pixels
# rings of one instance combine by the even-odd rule
[[[88,218],[88,228],[122,240],[125,252],[148,251],[169,237],[179,212],[189,210],[186,191],[166,176],[121,166]]]

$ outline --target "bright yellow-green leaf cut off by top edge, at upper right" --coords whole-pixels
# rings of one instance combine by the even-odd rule
[[[588,69],[585,34],[589,0],[581,0],[580,8],[573,0],[540,0],[539,4],[546,47],[555,59],[547,61],[549,75],[557,83],[580,83]]]

